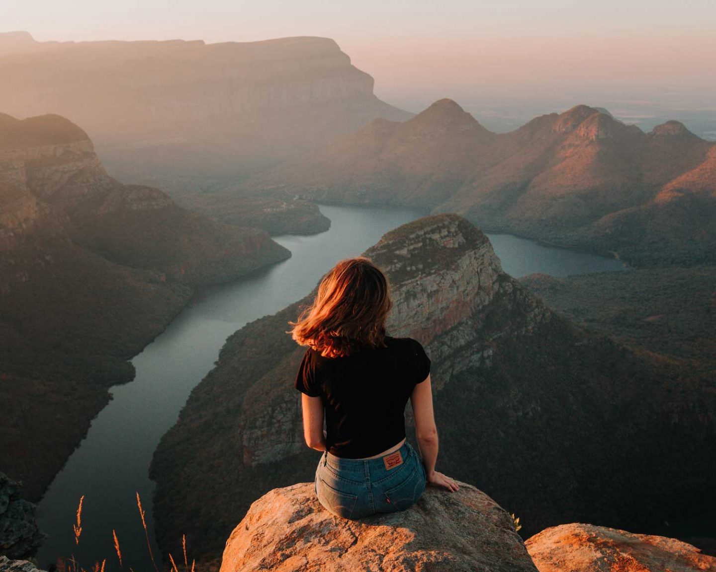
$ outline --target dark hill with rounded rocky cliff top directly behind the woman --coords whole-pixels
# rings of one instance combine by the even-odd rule
[[[393,285],[390,332],[417,337],[432,360],[440,470],[489,490],[533,532],[654,521],[713,499],[708,388],[687,398],[667,363],[553,314],[455,215],[400,227],[366,254]],[[230,337],[164,436],[151,470],[163,548],[187,533],[216,559],[255,498],[313,475],[292,388],[304,350],[284,333],[310,298]]]

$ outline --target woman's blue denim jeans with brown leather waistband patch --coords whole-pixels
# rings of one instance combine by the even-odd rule
[[[398,452],[400,457],[391,453],[387,459],[370,460],[324,453],[316,468],[319,502],[334,515],[352,520],[405,511],[425,490],[425,468],[407,441]]]

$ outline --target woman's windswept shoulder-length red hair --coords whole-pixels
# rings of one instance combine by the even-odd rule
[[[391,307],[390,285],[379,267],[365,257],[342,260],[321,280],[313,304],[289,322],[291,337],[326,358],[384,347]]]

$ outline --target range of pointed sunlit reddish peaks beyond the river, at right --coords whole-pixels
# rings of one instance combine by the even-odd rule
[[[716,256],[716,144],[579,105],[493,134],[450,100],[376,121],[245,182],[244,194],[458,212],[485,230],[616,252],[636,265]]]

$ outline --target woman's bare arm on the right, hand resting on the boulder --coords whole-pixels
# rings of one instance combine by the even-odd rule
[[[458,490],[458,485],[453,479],[435,470],[438,443],[435,414],[432,411],[432,388],[429,374],[425,381],[415,385],[415,389],[410,395],[410,402],[412,403],[412,413],[415,416],[415,436],[418,448],[420,448],[422,464],[425,465],[427,482],[448,490]]]

